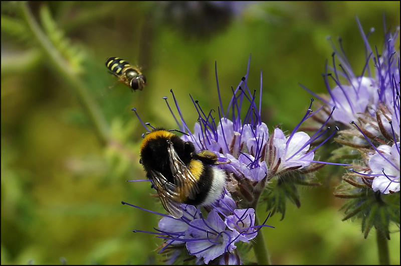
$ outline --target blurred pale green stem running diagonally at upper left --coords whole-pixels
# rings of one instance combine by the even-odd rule
[[[31,30],[31,33],[36,38],[36,41],[42,50],[50,59],[50,63],[65,80],[67,86],[76,91],[84,110],[88,113],[89,118],[93,122],[98,139],[102,145],[108,144],[109,126],[105,117],[102,115],[99,106],[95,101],[93,101],[93,98],[87,91],[87,88],[82,80],[74,73],[68,62],[66,62],[46,34],[39,27],[38,23],[32,16],[31,11],[29,10],[27,2],[21,2],[20,7],[22,10],[23,19],[26,21],[28,28]]]

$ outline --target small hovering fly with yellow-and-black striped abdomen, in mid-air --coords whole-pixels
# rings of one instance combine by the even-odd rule
[[[119,78],[120,82],[126,84],[132,91],[137,89],[142,90],[146,85],[146,77],[139,68],[131,66],[127,61],[121,58],[107,58],[106,66],[114,76]]]

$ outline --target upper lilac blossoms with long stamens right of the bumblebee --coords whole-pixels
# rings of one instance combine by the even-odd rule
[[[304,117],[289,135],[286,136],[280,128],[276,127],[269,136],[268,127],[261,118],[262,75],[259,102],[257,102],[257,90],[251,90],[248,87],[248,70],[236,89],[232,88],[233,96],[226,111],[223,108],[219,83],[217,84],[220,100],[217,112],[219,117],[213,115],[214,110],[204,112],[198,101],[193,100],[191,97],[198,113],[198,122],[195,123],[193,132],[185,123],[174,94],[172,94],[173,99],[182,124],[178,122],[178,119],[171,111],[167,97],[164,97],[164,99],[175,121],[177,121],[179,129],[187,132],[187,135],[181,138],[192,142],[198,150],[214,152],[219,161],[230,161],[229,164],[222,164],[220,167],[230,174],[233,181],[231,185],[238,182],[241,188],[237,186],[237,189],[244,191],[245,187],[247,187],[246,183],[248,183],[247,185],[250,185],[255,193],[258,185],[264,188],[266,183],[275,176],[280,177],[287,172],[295,170],[311,171],[308,167],[312,163],[323,163],[314,160],[314,153],[320,145],[330,139],[338,128],[334,127],[334,130],[331,130],[331,135],[327,134],[327,131],[330,131],[330,127],[323,130],[333,113],[333,108],[326,121],[316,130],[312,137],[305,132],[297,131],[305,120],[321,109],[313,112],[311,109],[313,99],[311,99]],[[243,113],[245,113],[245,116],[241,115]],[[320,140],[320,145],[312,149],[313,143],[318,139]],[[233,189],[236,189],[235,185],[231,186],[229,191],[234,192]]]

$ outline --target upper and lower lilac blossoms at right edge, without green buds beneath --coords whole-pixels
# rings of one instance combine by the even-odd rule
[[[400,61],[399,50],[395,49],[399,27],[394,32],[388,31],[385,34],[380,55],[378,49],[373,50],[368,42],[368,35],[374,29],[371,28],[365,35],[358,19],[356,22],[367,52],[362,72],[358,75],[353,72],[341,39],[339,50],[331,43],[334,49],[332,66],[328,67],[326,63],[323,74],[330,97],[326,100],[316,96],[327,104],[326,112],[331,106],[336,106],[333,120],[352,129],[340,131],[341,144],[349,146],[350,150],[370,147],[371,151],[359,150],[362,157],[368,157],[368,162],[362,167],[370,168],[370,171],[361,171],[359,174],[367,178],[365,183],[374,191],[380,190],[387,194],[389,191],[399,191],[399,159],[396,160],[399,157],[399,148],[396,143],[399,143]],[[340,64],[337,65],[336,60]],[[332,73],[328,73],[328,69]],[[331,89],[329,81],[334,82],[334,88]],[[371,179],[373,182],[369,181]]]

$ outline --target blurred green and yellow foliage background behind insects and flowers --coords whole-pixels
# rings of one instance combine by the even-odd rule
[[[227,108],[252,54],[248,80],[259,89],[263,72],[265,122],[269,130],[278,123],[290,130],[311,96],[298,83],[325,91],[327,36],[335,43],[342,37],[361,73],[365,51],[355,16],[365,32],[375,28],[369,42],[379,51],[383,14],[387,28],[399,25],[399,2],[1,5],[2,264],[161,264],[164,256],[153,250],[162,241],[132,232],[152,230],[158,217],[120,203],[163,211],[148,183],[125,182],[144,178],[138,150],[145,129],[131,108],[154,126],[176,128],[162,99],[173,104],[173,89],[191,127],[197,115],[188,94],[204,110],[217,110],[217,61]],[[131,92],[108,73],[111,56],[142,68],[143,91]],[[333,197],[336,182],[328,183],[303,189],[301,207],[289,204],[283,221],[279,214],[269,219],[273,263],[378,263],[374,232],[364,239],[359,221],[341,221],[343,201]],[[392,232],[390,262],[399,264],[399,228]]]

